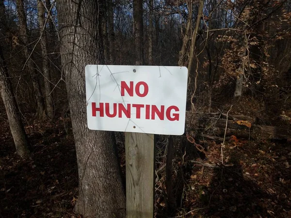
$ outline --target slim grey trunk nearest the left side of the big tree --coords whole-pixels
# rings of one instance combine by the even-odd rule
[[[45,99],[46,99],[46,111],[49,119],[53,118],[53,100],[51,95],[51,79],[49,70],[49,57],[47,55],[47,34],[45,25],[45,8],[42,0],[38,0],[38,22],[40,35],[42,35],[41,50],[42,50],[42,73],[45,83]]]

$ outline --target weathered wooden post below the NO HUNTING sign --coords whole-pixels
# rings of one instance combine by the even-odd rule
[[[126,217],[153,218],[154,135],[127,132]]]

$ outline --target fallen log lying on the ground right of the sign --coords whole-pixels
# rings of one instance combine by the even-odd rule
[[[193,115],[190,111],[187,111],[186,126],[188,131],[195,131],[195,136],[204,137],[229,137],[234,135],[245,139],[288,140],[291,136],[290,126],[257,125],[255,118],[243,115],[228,115],[226,121],[226,114],[203,113]]]

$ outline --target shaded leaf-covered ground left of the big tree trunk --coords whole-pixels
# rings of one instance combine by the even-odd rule
[[[5,138],[9,126],[0,126],[0,138]],[[31,121],[26,130],[32,151],[29,159],[16,156],[12,138],[5,138],[0,146],[0,217],[77,218],[73,212],[78,175],[72,136],[65,134],[60,120]]]

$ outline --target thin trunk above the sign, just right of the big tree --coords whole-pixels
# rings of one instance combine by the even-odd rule
[[[113,0],[108,1],[108,35],[110,64],[114,64],[114,23],[113,23]]]

